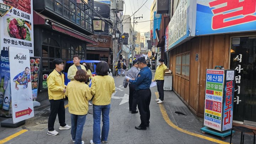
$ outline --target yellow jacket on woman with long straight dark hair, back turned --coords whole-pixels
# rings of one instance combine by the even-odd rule
[[[111,102],[111,96],[115,90],[116,86],[112,76],[94,76],[91,84],[91,94],[94,96],[92,103],[98,106],[109,105]]]

